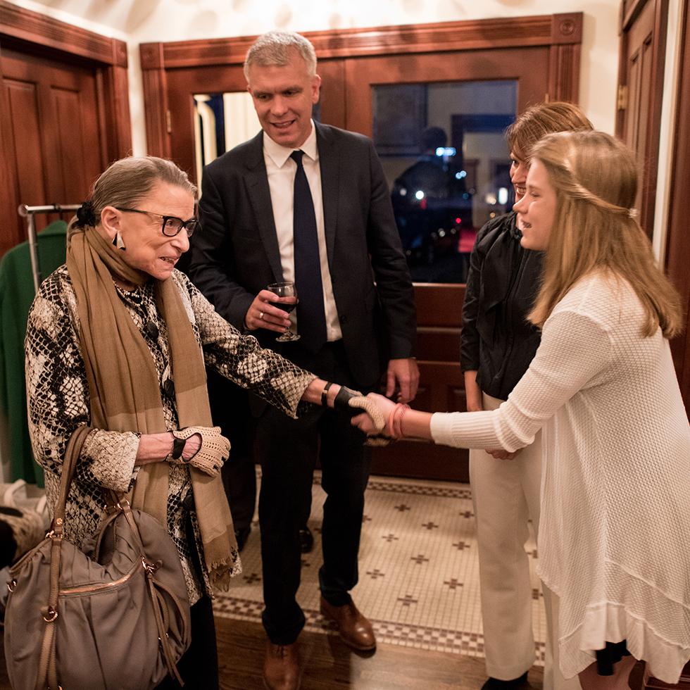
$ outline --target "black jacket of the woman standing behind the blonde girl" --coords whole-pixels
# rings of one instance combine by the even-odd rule
[[[516,213],[489,220],[470,256],[460,366],[477,370],[477,384],[506,400],[527,371],[541,334],[527,322],[539,291],[543,253],[522,249]]]

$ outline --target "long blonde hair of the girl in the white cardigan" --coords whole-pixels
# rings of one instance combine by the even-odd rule
[[[548,134],[532,149],[556,191],[541,288],[529,320],[541,327],[567,291],[594,270],[627,280],[639,297],[645,337],[682,329],[680,298],[658,268],[632,208],[634,153],[603,132]]]

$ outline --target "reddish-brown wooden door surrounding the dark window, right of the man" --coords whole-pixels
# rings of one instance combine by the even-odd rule
[[[345,61],[345,103],[348,130],[372,136],[372,90],[385,84],[449,82],[517,83],[517,112],[548,98],[548,70],[530,65],[548,63],[545,46],[457,51],[444,54],[371,56]],[[400,117],[405,117],[404,113]],[[429,412],[465,410],[460,372],[460,320],[464,284],[415,283],[418,315],[420,389],[413,403]],[[406,476],[467,480],[468,451],[426,445],[420,464],[419,442],[405,442],[374,451],[374,470]]]

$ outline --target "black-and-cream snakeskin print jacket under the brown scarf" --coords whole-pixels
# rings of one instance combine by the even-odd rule
[[[313,375],[276,353],[261,349],[254,337],[240,334],[215,313],[211,303],[183,273],[175,270],[169,280],[174,280],[180,290],[206,365],[295,417]],[[153,282],[133,291],[117,289],[156,363],[165,423],[168,429],[177,429],[168,330],[156,308]],[[34,300],[25,341],[29,432],[34,457],[45,470],[51,510],[58,497],[67,443],[78,425],[90,423],[79,332],[75,293],[66,266],[61,266],[44,280]],[[92,537],[103,515],[103,489],[131,489],[137,477],[134,459],[138,446],[137,435],[130,432],[94,429],[87,437],[65,515],[66,536],[84,551],[91,550]],[[180,553],[190,601],[195,603],[204,591],[212,593],[203,558],[199,558],[197,544],[201,544],[201,539],[193,503],[185,500],[191,494],[187,466],[171,464],[168,532]],[[241,565],[237,553],[234,556],[237,574]]]

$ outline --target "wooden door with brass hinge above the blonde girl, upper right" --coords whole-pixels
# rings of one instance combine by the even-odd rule
[[[635,207],[649,237],[654,227],[667,0],[624,0],[621,6],[616,134],[637,154],[642,171]]]

